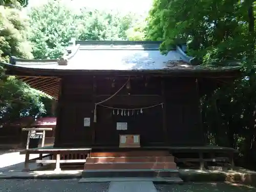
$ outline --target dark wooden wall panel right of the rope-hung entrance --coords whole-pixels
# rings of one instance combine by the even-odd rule
[[[167,128],[170,145],[203,145],[203,132],[200,124],[199,93],[196,78],[184,78],[179,81],[179,88],[172,88],[173,79],[167,81]]]

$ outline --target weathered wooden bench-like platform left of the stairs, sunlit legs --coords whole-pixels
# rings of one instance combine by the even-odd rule
[[[90,154],[91,148],[54,148],[53,146],[31,148],[28,150],[21,151],[19,154],[25,154],[25,167],[24,172],[29,171],[29,163],[54,163],[55,171],[60,171],[60,163],[85,163],[86,159],[67,159],[60,160],[61,155],[66,154]],[[39,157],[29,159],[30,154],[39,154]],[[43,155],[45,154],[45,155]],[[53,159],[44,159],[52,156]]]

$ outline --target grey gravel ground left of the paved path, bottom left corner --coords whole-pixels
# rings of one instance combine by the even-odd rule
[[[69,180],[24,180],[7,179],[0,180],[0,192],[106,192],[109,183],[78,183],[78,179]]]

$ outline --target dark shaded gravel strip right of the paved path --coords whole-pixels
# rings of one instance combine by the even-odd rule
[[[256,188],[226,183],[185,183],[183,185],[155,185],[159,192],[256,192]]]

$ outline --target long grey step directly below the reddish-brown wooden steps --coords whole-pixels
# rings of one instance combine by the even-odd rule
[[[179,171],[177,169],[94,169],[82,172],[82,178],[106,177],[179,177]]]

